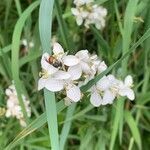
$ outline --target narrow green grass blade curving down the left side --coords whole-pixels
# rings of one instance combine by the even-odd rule
[[[39,5],[39,3],[40,1],[35,1],[24,11],[24,13],[21,15],[21,17],[19,18],[19,20],[17,21],[15,25],[13,38],[12,38],[12,62],[11,62],[12,76],[13,76],[14,84],[16,87],[19,104],[22,108],[22,112],[23,112],[26,122],[28,120],[28,117],[27,117],[26,109],[25,109],[22,96],[21,96],[21,93],[23,92],[23,90],[22,90],[21,81],[19,78],[19,45],[20,45],[21,32],[23,30],[25,21],[28,18],[28,16],[31,14],[31,12]]]

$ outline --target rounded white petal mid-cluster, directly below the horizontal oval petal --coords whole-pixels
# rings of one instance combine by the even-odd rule
[[[79,79],[82,75],[81,66],[78,64],[78,65],[69,67],[68,68],[68,73],[71,75],[72,80]]]

